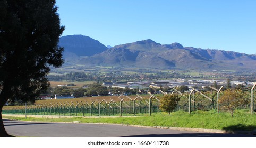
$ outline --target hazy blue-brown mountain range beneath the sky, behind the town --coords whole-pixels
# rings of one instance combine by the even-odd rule
[[[114,47],[83,35],[62,36],[66,64],[183,70],[255,71],[256,56],[233,51],[160,44],[150,39]]]

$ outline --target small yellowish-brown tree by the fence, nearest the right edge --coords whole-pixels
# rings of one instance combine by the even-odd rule
[[[242,90],[227,89],[219,99],[221,109],[227,110],[231,113],[231,117],[233,117],[235,109],[245,103],[246,99],[244,98]]]

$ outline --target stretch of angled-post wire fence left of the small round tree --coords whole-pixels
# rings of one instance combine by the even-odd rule
[[[153,96],[153,95],[152,95]],[[58,116],[136,116],[160,112],[159,101],[144,99],[138,96],[136,100],[110,101],[91,100],[38,104],[30,106],[9,106],[2,110],[2,114],[28,115],[58,115]]]

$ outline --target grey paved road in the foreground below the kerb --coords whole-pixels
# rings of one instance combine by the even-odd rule
[[[22,122],[4,119],[10,135],[25,137],[251,137],[106,124]],[[254,136],[256,137],[256,136]]]

